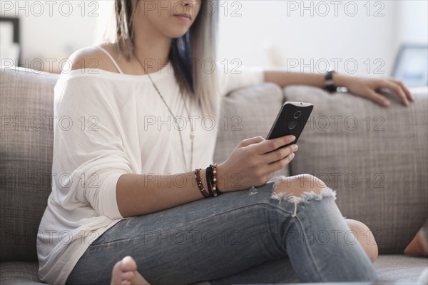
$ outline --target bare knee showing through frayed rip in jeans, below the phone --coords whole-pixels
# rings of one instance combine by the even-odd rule
[[[327,185],[321,179],[310,174],[299,174],[281,178],[275,184],[275,192],[285,192],[295,196],[302,196],[304,192],[313,191],[320,194]]]

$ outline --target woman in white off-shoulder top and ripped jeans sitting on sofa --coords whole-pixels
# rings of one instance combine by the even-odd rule
[[[377,247],[364,242],[372,234],[343,219],[335,191],[308,174],[271,180],[297,151],[278,147],[294,138],[245,139],[213,163],[216,129],[198,119],[218,118],[219,94],[263,81],[325,87],[322,74],[212,72],[217,5],[116,0],[116,40],[71,56],[55,88],[56,179],[38,236],[43,281],[106,284],[128,255],[138,272],[120,261],[113,283],[377,279]],[[392,79],[332,80],[384,106],[382,87],[413,101]],[[252,186],[257,194],[242,191]],[[360,242],[344,238],[350,230]]]

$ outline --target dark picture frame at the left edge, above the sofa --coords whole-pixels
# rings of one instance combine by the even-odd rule
[[[19,18],[17,17],[0,17],[1,31],[1,64],[5,60],[13,60],[16,66],[21,64],[21,35]]]

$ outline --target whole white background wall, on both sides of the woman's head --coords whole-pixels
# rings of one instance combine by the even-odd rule
[[[60,0],[54,1],[49,11],[47,2],[1,1],[0,16],[17,14],[21,18],[24,59],[63,59],[93,44],[96,22],[106,21],[106,6],[112,3]],[[44,8],[42,14],[40,4]],[[68,4],[72,11],[65,16]],[[303,6],[312,9],[305,10]],[[99,16],[91,16],[91,11]],[[282,66],[290,71],[324,71],[326,61],[332,66],[337,61],[338,71],[387,75],[401,41],[427,43],[428,36],[426,0],[229,0],[221,1],[220,13],[220,59],[227,59],[229,64],[239,59],[248,66]],[[296,62],[297,66],[290,65]]]

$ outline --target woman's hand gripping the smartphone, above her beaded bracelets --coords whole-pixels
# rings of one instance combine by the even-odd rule
[[[294,136],[263,139],[256,136],[240,141],[228,159],[217,166],[217,185],[220,191],[238,191],[266,184],[275,171],[290,163],[297,144],[282,147],[294,141]]]

